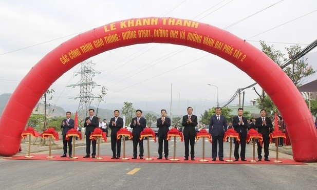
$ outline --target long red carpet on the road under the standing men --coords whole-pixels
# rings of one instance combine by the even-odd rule
[[[139,157],[137,159],[131,159],[132,157],[129,156],[129,160],[121,160],[120,159],[111,159],[111,156],[100,156],[103,159],[95,159],[95,158],[83,158],[83,155],[78,155],[78,159],[70,159],[68,157],[61,158],[61,155],[52,155],[55,158],[46,158],[48,155],[43,155],[43,154],[34,154],[32,155],[33,158],[25,158],[25,156],[13,156],[13,157],[7,157],[5,159],[9,160],[54,160],[54,161],[89,161],[89,162],[147,162],[147,163],[204,163],[204,164],[297,164],[297,165],[302,165],[305,164],[303,162],[296,162],[292,159],[287,159],[287,158],[280,158],[279,160],[282,162],[273,162],[276,160],[275,158],[270,158],[270,162],[268,161],[259,161],[259,162],[250,162],[249,160],[252,160],[252,158],[247,158],[248,161],[236,161],[236,162],[227,162],[229,158],[224,158],[225,161],[219,161],[218,159],[216,161],[212,161],[211,158],[205,158],[208,161],[199,161],[201,157],[195,157],[195,161],[192,160],[186,160],[184,161],[183,157],[176,157],[179,159],[179,161],[172,161],[172,160],[165,160],[164,158],[161,160],[157,160],[156,157],[150,157],[153,158],[154,160],[145,160],[147,156],[144,156],[143,160],[140,160]],[[169,159],[172,159],[173,157],[169,157]],[[257,160],[257,159],[256,159]]]

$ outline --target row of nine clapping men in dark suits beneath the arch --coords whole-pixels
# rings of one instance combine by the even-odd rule
[[[239,159],[241,161],[246,161],[246,138],[248,130],[255,129],[258,133],[263,136],[263,143],[257,142],[257,155],[258,161],[262,161],[262,149],[264,149],[264,160],[269,160],[269,135],[273,130],[273,123],[270,118],[267,117],[265,109],[260,110],[260,117],[257,119],[251,118],[247,119],[243,116],[244,110],[239,108],[237,110],[237,115],[232,118],[232,122],[227,124],[227,119],[224,115],[221,114],[221,108],[215,108],[215,114],[211,116],[209,121],[209,133],[212,136],[212,161],[215,161],[216,158],[220,161],[223,160],[223,137],[225,132],[228,129],[233,128],[236,133],[239,133],[240,141],[234,141],[234,157],[235,161]],[[157,119],[156,125],[159,128],[158,130],[158,158],[167,160],[169,159],[169,141],[166,140],[167,133],[171,127],[171,119],[166,117],[166,110],[161,110],[161,117]],[[110,119],[110,122],[107,123],[106,119],[101,121],[101,118],[95,116],[95,110],[89,109],[89,116],[85,118],[84,127],[85,136],[86,136],[86,155],[84,158],[89,158],[90,155],[92,158],[96,156],[96,140],[90,140],[90,134],[96,128],[101,128],[103,132],[108,136],[108,128],[111,130],[111,151],[113,156],[111,159],[119,159],[121,153],[121,140],[117,140],[117,132],[123,128],[123,118],[120,116],[120,111],[114,111],[114,117]],[[317,120],[316,120],[317,122]],[[285,132],[285,125],[282,117],[277,118],[278,130]],[[197,116],[193,114],[193,108],[187,108],[187,115],[182,117],[182,132],[184,138],[184,160],[195,160],[195,138],[196,133],[198,132],[198,121]],[[316,124],[317,126],[317,124]],[[71,141],[72,138],[68,140],[65,139],[66,133],[68,130],[74,128],[74,120],[71,119],[71,113],[66,112],[66,118],[62,120],[61,128],[63,136],[63,155],[61,157],[66,157],[67,154],[67,145],[68,145],[68,154],[71,158]],[[140,139],[140,133],[146,128],[146,119],[142,117],[142,111],[136,110],[136,117],[132,118],[130,123],[130,128],[132,128],[133,135],[133,157],[132,159],[137,159],[139,156],[140,159],[143,159],[144,149],[143,149],[143,139]],[[229,141],[230,142],[230,141]],[[283,146],[283,138],[278,139],[279,146]],[[92,145],[92,152],[90,152],[90,145]],[[139,146],[139,155],[138,155],[138,146]],[[163,148],[164,147],[164,148]],[[240,148],[240,153],[239,153]],[[190,151],[189,151],[190,149]],[[164,150],[164,151],[163,151]],[[91,154],[90,154],[91,153]]]

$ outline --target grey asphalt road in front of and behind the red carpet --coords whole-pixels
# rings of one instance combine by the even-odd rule
[[[201,156],[201,140],[196,156]],[[170,142],[170,157],[173,142]],[[210,160],[211,144],[206,142]],[[100,145],[100,154],[111,156],[110,143]],[[176,156],[183,156],[183,142],[177,140]],[[144,141],[144,157],[147,156]],[[151,157],[157,157],[157,143],[150,142]],[[46,151],[48,154],[48,151]],[[62,155],[62,150],[52,154]],[[43,154],[45,152],[41,152]],[[35,153],[34,153],[35,154]],[[270,151],[271,160],[276,152]],[[76,147],[85,155],[85,146]],[[123,155],[123,153],[121,153]],[[132,141],[126,141],[126,155],[132,157]],[[274,156],[273,156],[274,155]],[[229,143],[225,143],[225,157]],[[247,145],[247,157],[252,146]],[[280,154],[280,158],[292,158]],[[211,162],[211,161],[209,161]],[[133,174],[127,174],[139,168]],[[316,189],[317,163],[307,165],[122,163],[89,161],[35,161],[0,159],[1,189]]]

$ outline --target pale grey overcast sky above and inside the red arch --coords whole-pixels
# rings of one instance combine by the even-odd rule
[[[316,39],[317,2],[309,1],[1,1],[0,2],[0,94],[13,93],[29,70],[64,41],[91,30],[136,17],[191,19],[225,29],[260,49],[260,40],[286,53],[285,47],[303,48]],[[314,49],[313,51],[317,51]],[[217,101],[227,102],[238,88],[252,83],[246,73],[213,54],[170,44],[142,44],[123,47],[91,57],[101,74],[94,77],[108,91],[105,109],[121,109],[124,101],[136,109],[185,114],[192,106],[197,115]],[[144,68],[147,68],[144,70]],[[51,88],[51,104],[70,111],[78,107],[78,88],[66,87],[80,80],[66,72]],[[143,71],[142,71],[143,70]],[[273,84],[272,84],[273,85]],[[260,90],[259,86],[256,89]],[[245,90],[245,102],[257,98]],[[236,99],[232,104],[236,104]],[[92,101],[97,107],[97,101]]]

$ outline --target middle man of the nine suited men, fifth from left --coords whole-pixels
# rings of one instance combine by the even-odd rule
[[[163,158],[163,141],[164,141],[164,157],[165,160],[169,159],[169,141],[166,140],[167,138],[167,132],[169,132],[169,128],[171,126],[171,119],[166,117],[166,110],[161,110],[161,116],[156,121],[156,126],[159,128],[159,131],[157,133],[157,136],[159,138],[159,157],[157,158],[162,159]]]

